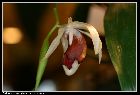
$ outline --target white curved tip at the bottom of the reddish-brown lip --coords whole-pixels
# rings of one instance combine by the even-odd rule
[[[62,65],[62,66],[63,66],[63,69],[65,71],[65,74],[67,76],[71,76],[77,71],[77,69],[80,66],[80,64],[78,64],[78,61],[75,60],[74,63],[72,64],[72,68],[70,70],[65,65]]]

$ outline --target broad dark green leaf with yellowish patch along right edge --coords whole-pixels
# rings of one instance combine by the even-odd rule
[[[136,90],[136,4],[110,4],[105,39],[122,90]]]

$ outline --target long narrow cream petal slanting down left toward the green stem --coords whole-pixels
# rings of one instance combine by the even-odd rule
[[[64,28],[59,28],[58,30],[58,35],[57,37],[52,41],[46,55],[45,58],[48,59],[48,57],[54,52],[54,50],[58,47],[59,43],[60,43],[60,39],[62,37],[64,33]]]

